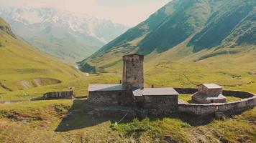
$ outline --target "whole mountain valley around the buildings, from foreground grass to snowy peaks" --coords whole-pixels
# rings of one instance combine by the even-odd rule
[[[0,142],[256,142],[256,108],[221,118],[170,114],[133,119],[95,115],[87,99],[89,84],[118,84],[122,56],[134,53],[145,55],[145,87],[216,83],[224,90],[256,94],[255,4],[173,0],[127,32],[111,21],[84,16],[79,23],[76,16],[52,9],[12,9],[17,19],[5,17],[11,26],[0,18]],[[19,15],[29,11],[48,11],[50,20],[73,17],[73,30],[54,21],[32,24]],[[95,26],[94,31],[80,33],[88,28],[82,23]],[[40,35],[27,36],[28,29]],[[71,89],[75,99],[29,102]],[[194,103],[190,94],[178,99]],[[239,100],[227,97],[227,102]]]

